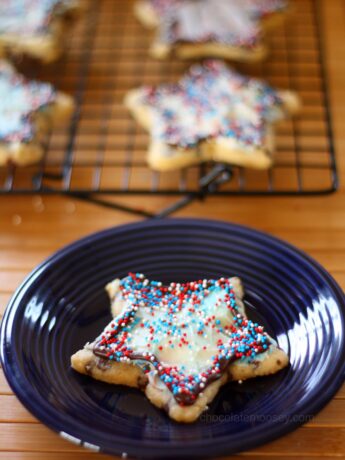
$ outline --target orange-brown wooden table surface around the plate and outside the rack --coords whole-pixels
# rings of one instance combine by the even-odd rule
[[[297,2],[298,3],[298,2]],[[340,190],[324,197],[209,198],[179,216],[208,217],[264,230],[308,252],[345,288],[345,3],[324,1],[323,27]],[[147,197],[125,203],[146,204]],[[171,198],[149,198],[163,207]],[[53,251],[100,229],[137,217],[63,197],[0,198],[0,314],[23,277]],[[254,459],[345,458],[345,386],[310,423],[277,441],[240,454]],[[0,370],[0,459],[101,459],[32,417]]]

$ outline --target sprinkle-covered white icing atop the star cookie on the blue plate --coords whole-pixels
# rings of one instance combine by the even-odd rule
[[[108,287],[110,292],[115,289],[114,283]],[[162,286],[130,273],[115,293],[118,307],[112,310],[119,314],[92,345],[94,353],[134,361],[151,381],[159,384],[160,379],[179,403],[192,404],[229,362],[247,357],[253,361],[270,347],[270,338],[246,318],[236,295],[241,294],[232,279]]]

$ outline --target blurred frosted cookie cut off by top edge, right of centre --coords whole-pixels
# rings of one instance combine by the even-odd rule
[[[279,23],[286,0],[140,0],[135,14],[158,28],[157,58],[221,57],[256,61],[266,54],[263,31]]]

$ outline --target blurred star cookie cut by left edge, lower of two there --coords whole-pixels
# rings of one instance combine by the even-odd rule
[[[27,80],[0,60],[0,165],[40,160],[47,132],[73,109],[70,96],[49,83]]]

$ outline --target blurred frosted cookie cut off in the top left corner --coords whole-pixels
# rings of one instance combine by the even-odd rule
[[[79,0],[0,2],[0,55],[27,54],[51,62],[64,47],[68,19],[81,10]]]

